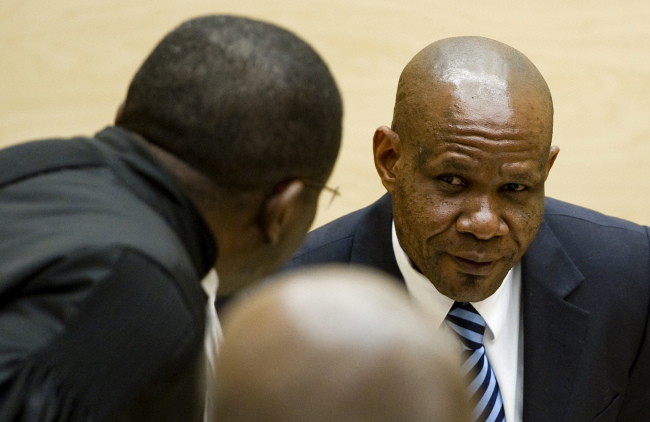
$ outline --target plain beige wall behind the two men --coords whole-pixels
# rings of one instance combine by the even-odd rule
[[[454,35],[510,44],[546,77],[562,148],[549,195],[650,224],[647,0],[2,0],[0,145],[110,124],[153,45],[205,13],[285,26],[330,64],[346,108],[331,179],[343,196],[323,204],[317,225],[383,193],[371,138],[390,124],[399,73],[422,47]]]

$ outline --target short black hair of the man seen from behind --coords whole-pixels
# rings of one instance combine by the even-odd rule
[[[231,191],[292,178],[324,182],[341,143],[342,102],[321,57],[276,25],[191,19],[136,73],[117,122]]]

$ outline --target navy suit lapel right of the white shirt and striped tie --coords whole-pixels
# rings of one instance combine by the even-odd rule
[[[590,316],[565,298],[583,281],[544,222],[522,260],[523,419],[565,420]]]

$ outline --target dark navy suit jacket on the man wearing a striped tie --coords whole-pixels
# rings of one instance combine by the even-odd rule
[[[285,269],[367,265],[402,279],[392,203],[309,233]],[[522,258],[524,421],[650,420],[649,230],[546,199]]]

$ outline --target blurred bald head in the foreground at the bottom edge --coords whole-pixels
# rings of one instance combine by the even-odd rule
[[[467,422],[457,350],[374,270],[295,271],[228,309],[219,422]]]

